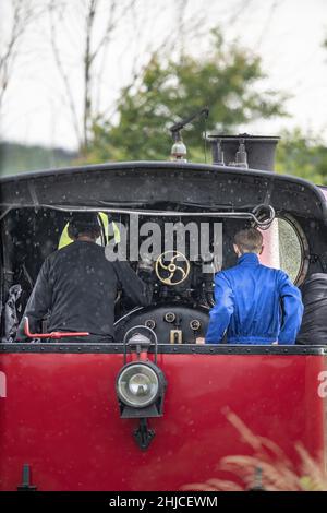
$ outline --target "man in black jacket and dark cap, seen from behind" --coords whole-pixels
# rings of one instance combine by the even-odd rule
[[[109,262],[100,236],[97,214],[74,213],[69,224],[73,242],[44,262],[17,331],[24,339],[24,317],[33,333],[41,332],[49,313],[48,332],[88,332],[89,339],[112,342],[114,300],[119,289],[135,305],[150,303],[150,287],[128,262]],[[87,342],[87,337],[84,337]]]

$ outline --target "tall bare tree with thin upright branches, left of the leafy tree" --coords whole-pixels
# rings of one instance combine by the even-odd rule
[[[65,100],[68,103],[72,124],[81,153],[87,152],[89,122],[96,112],[95,96],[98,94],[97,84],[101,82],[108,46],[119,23],[133,9],[136,0],[85,0],[83,2],[58,3],[49,1],[50,39],[55,62],[63,82]],[[78,15],[77,15],[78,14]],[[83,83],[83,97],[75,93],[75,81],[72,73],[72,62],[66,59],[60,47],[60,39],[71,35],[73,20],[78,31],[77,65],[81,71],[78,82]],[[69,21],[69,36],[64,34],[63,22]],[[72,48],[70,43],[68,47]],[[75,48],[74,48],[75,50]]]

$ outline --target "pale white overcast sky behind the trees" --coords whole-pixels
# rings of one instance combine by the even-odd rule
[[[11,1],[0,0],[2,45]],[[46,0],[36,1],[46,3]],[[77,100],[83,94],[78,59],[85,1],[69,0],[58,43],[63,61],[70,67]],[[110,0],[101,1],[110,3]],[[125,16],[106,56],[108,65],[98,93],[101,110],[109,108],[110,112],[120,87],[131,79],[133,65],[137,68],[146,62],[149,48],[178,29],[177,4],[177,0],[138,0],[137,13]],[[327,0],[190,0],[186,25],[197,15],[205,17],[207,28],[219,26],[228,39],[238,38],[262,57],[268,74],[263,86],[283,90],[293,96],[287,104],[290,119],[256,122],[247,131],[278,134],[282,128],[299,126],[322,132],[327,141],[327,50],[322,48],[327,37]],[[100,20],[98,23],[100,31]],[[185,36],[184,44],[198,58],[205,57],[208,35],[196,40]],[[53,62],[48,16],[32,24],[20,51],[3,106],[1,139],[75,148],[76,135]]]

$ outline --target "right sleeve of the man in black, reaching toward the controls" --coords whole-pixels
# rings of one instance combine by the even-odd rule
[[[147,307],[152,301],[152,286],[141,279],[128,262],[113,262],[120,288],[134,305]]]

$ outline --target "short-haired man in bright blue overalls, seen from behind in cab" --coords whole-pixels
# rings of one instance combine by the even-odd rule
[[[216,275],[205,343],[219,344],[226,333],[230,344],[294,344],[303,314],[300,290],[283,271],[259,263],[257,229],[239,231],[233,247],[238,265]]]

